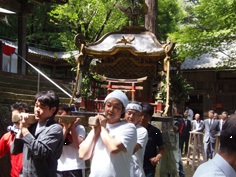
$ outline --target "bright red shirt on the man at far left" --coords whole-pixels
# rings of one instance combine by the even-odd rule
[[[15,134],[11,131],[5,133],[0,139],[0,158],[10,153],[10,147],[14,140]],[[11,177],[19,177],[22,169],[22,155],[23,153],[13,155],[10,153],[11,158]]]

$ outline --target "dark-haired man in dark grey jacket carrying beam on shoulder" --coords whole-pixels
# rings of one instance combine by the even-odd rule
[[[53,91],[42,91],[36,94],[34,103],[37,122],[30,125],[29,115],[21,114],[12,153],[23,149],[24,177],[56,177],[57,160],[64,143],[62,127],[54,120],[59,98]]]

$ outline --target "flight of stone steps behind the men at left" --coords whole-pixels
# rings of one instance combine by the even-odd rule
[[[54,80],[66,92],[72,95],[62,80]],[[68,82],[69,83],[69,82]],[[69,104],[70,98],[45,78],[40,78],[39,91],[55,91],[61,103]],[[30,107],[34,105],[34,96],[38,92],[38,77],[33,75],[19,75],[15,73],[0,72],[0,103],[11,105],[16,101],[26,102]]]

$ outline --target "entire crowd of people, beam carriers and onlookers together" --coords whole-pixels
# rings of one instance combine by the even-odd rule
[[[94,117],[98,124],[91,126],[89,132],[80,118],[72,123],[55,121],[56,115],[81,111],[80,103],[76,99],[75,106],[69,107],[60,104],[55,92],[39,92],[34,99],[34,123],[30,122],[25,103],[12,105],[13,125],[0,140],[0,158],[10,153],[11,177],[85,177],[87,165],[90,177],[155,177],[156,166],[170,164],[169,157],[175,150],[172,161],[177,170],[172,173],[162,165],[165,169],[160,166],[160,177],[185,177],[181,155],[188,151],[190,131],[204,132],[207,160],[213,159],[202,164],[194,177],[203,176],[206,167],[214,171],[206,172],[208,177],[236,176],[233,114],[223,111],[216,116],[209,110],[208,118],[201,120],[200,114],[194,115],[186,107],[183,116],[174,122],[173,135],[178,141],[172,149],[165,143],[161,130],[151,124],[154,114],[151,104],[129,102],[122,91],[115,90],[104,99],[104,114]],[[218,132],[221,146],[214,156]]]

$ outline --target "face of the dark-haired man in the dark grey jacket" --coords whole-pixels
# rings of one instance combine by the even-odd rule
[[[42,105],[38,100],[34,105],[34,114],[35,119],[38,120],[39,123],[45,123],[56,111],[56,107],[52,107],[51,109],[47,105]]]

